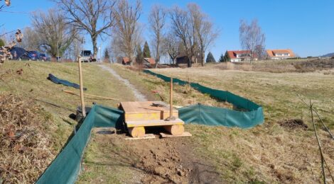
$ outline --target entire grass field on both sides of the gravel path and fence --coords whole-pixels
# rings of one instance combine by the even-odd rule
[[[166,82],[119,64],[107,66],[117,71],[124,79],[128,79],[149,100],[163,100],[168,103],[169,84]],[[16,74],[19,69],[23,69],[21,75]],[[334,132],[333,74],[328,74],[327,71],[269,73],[226,70],[221,64],[153,71],[249,98],[264,107],[265,122],[248,130],[186,125],[185,129],[191,132],[193,137],[180,138],[177,141],[156,139],[124,142],[124,134],[93,133],[85,151],[85,170],[80,173],[77,183],[184,183],[185,180],[191,181],[193,178],[198,178],[197,181],[203,179],[203,182],[215,178],[220,183],[320,182],[320,156],[308,108],[301,103],[296,94],[300,94],[306,100],[311,98],[325,124]],[[41,107],[37,115],[44,121],[36,123],[48,124],[45,131],[53,139],[53,147],[50,149],[58,153],[76,125],[68,115],[75,113],[80,99],[62,91],[78,90],[48,81],[46,77],[49,73],[78,83],[76,63],[5,62],[0,66],[0,75],[4,74],[0,81],[0,93],[12,93],[21,98],[33,99],[32,105]],[[83,74],[87,93],[118,98],[119,101],[135,100],[132,92],[124,84],[96,64],[83,64]],[[176,105],[203,103],[231,108],[230,104],[218,102],[188,86],[176,85],[174,89]],[[97,102],[111,107],[118,103],[114,100],[92,98],[85,98],[85,101],[87,105]],[[308,129],[291,129],[279,124],[296,118],[302,119],[308,125]],[[325,159],[333,172],[333,140],[320,125],[318,133]],[[151,159],[151,165],[142,163],[146,161],[146,156]],[[179,167],[158,165],[166,161],[166,156],[173,159],[181,158],[180,162],[179,159],[172,161],[168,157],[176,166],[182,164],[184,168],[189,169],[186,172],[189,175],[178,173]],[[146,165],[148,167],[143,168]],[[168,171],[168,167],[173,168],[170,170],[176,170],[175,173],[171,173],[175,174],[173,177],[162,175],[164,171]],[[198,167],[204,167],[205,171],[199,172]],[[160,171],[162,168],[165,170]]]

